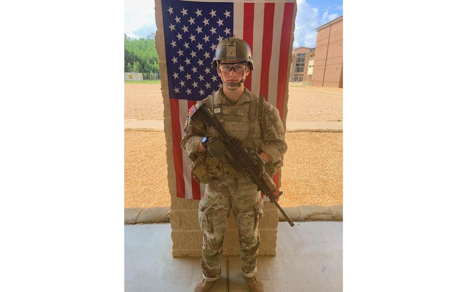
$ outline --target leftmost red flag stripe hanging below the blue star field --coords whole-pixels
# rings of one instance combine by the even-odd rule
[[[173,162],[175,164],[175,177],[177,185],[177,196],[185,197],[185,181],[183,179],[183,161],[182,148],[182,133],[180,132],[180,116],[179,116],[179,100],[170,98],[170,119],[172,120],[172,147],[173,147]],[[170,167],[170,166],[169,166]]]

